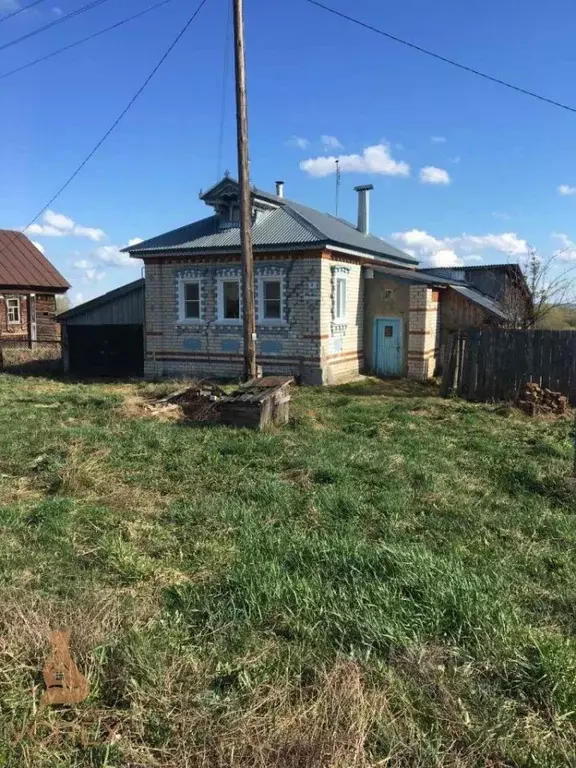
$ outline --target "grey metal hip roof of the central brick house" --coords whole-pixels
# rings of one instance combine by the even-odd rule
[[[226,178],[227,184],[237,184]],[[219,182],[221,183],[221,182]],[[215,189],[215,185],[212,189]],[[290,246],[336,245],[377,258],[417,264],[417,259],[375,235],[364,235],[349,222],[321,213],[284,197],[254,188],[256,199],[273,203],[273,210],[260,213],[252,226],[254,250],[265,251]],[[204,196],[209,193],[205,193]],[[167,232],[124,250],[143,256],[158,251],[226,252],[240,249],[239,226],[222,228],[217,216],[201,219],[188,226]]]

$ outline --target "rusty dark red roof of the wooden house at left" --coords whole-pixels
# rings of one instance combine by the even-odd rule
[[[70,285],[26,235],[0,229],[1,288],[46,288],[62,293]]]

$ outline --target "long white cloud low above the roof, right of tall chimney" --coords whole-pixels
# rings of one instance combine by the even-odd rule
[[[406,232],[395,232],[392,237],[416,258],[436,267],[483,261],[483,257],[474,251],[496,251],[506,256],[522,256],[528,253],[528,243],[514,232],[462,234],[458,237],[438,238],[423,229],[409,229]]]

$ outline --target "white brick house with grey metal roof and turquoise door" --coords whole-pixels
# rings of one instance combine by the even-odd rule
[[[266,374],[310,384],[361,372],[425,379],[440,359],[443,301],[457,295],[474,324],[505,320],[466,280],[418,270],[370,234],[372,187],[356,189],[356,227],[286,199],[282,182],[275,195],[252,191],[257,359]],[[243,369],[238,184],[225,177],[200,197],[212,215],[125,249],[144,261],[148,377]]]

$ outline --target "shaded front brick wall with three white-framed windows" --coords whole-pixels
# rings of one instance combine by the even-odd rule
[[[318,252],[255,258],[256,274],[273,266],[285,278],[285,324],[257,324],[257,362],[265,374],[290,373],[308,383],[322,383],[321,263]],[[217,321],[217,279],[227,267],[237,270],[239,257],[201,261],[165,256],[146,264],[147,376],[242,375],[242,325]],[[203,322],[195,325],[178,323],[177,279],[187,268],[202,280]]]

